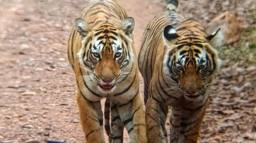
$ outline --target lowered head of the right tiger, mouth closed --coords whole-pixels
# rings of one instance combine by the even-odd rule
[[[168,25],[163,32],[166,46],[163,70],[175,85],[173,89],[188,100],[199,100],[209,91],[211,80],[220,67],[213,47],[221,44],[222,34],[218,29],[207,36],[201,25],[193,20],[175,29]]]

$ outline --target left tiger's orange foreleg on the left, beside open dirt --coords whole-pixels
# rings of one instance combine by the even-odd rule
[[[76,95],[80,121],[87,143],[105,143],[103,115],[100,102],[91,103],[83,98],[80,91]]]

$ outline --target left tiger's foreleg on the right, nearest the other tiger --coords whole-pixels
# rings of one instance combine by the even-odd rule
[[[127,104],[120,105],[118,111],[130,136],[130,143],[147,143],[145,116],[139,93]]]

